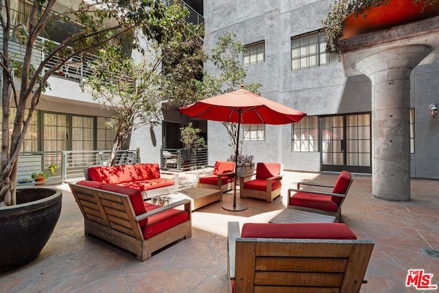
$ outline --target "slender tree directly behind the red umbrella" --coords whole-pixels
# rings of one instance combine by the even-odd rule
[[[229,91],[235,91],[239,89],[241,84],[244,84],[244,80],[247,76],[247,71],[244,69],[241,54],[246,51],[246,47],[242,45],[239,40],[235,40],[235,35],[226,33],[219,36],[217,43],[211,50],[211,55],[209,55],[209,60],[213,62],[213,65],[221,71],[219,75],[213,76],[208,73],[204,73],[204,87],[202,89],[202,95],[204,96],[214,96],[227,93]],[[252,91],[253,93],[259,93],[259,88],[262,86],[259,82],[252,82],[251,84],[246,84],[246,90]],[[230,148],[235,154],[237,147],[237,131],[238,124],[230,122],[222,122],[226,127],[228,137],[230,138]],[[244,143],[243,140],[239,142]]]

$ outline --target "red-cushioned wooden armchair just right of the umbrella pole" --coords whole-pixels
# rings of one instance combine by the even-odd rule
[[[239,182],[240,198],[261,198],[272,202],[281,195],[283,165],[279,163],[257,163],[256,173],[243,176]],[[248,180],[256,175],[255,179]]]

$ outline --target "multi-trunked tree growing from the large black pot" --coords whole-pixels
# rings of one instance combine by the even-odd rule
[[[69,59],[85,52],[128,40],[132,48],[139,47],[139,35],[161,43],[165,38],[167,6],[159,0],[96,0],[70,2],[71,7],[56,12],[56,0],[33,0],[29,12],[29,25],[15,24],[12,19],[12,1],[1,1],[0,23],[3,33],[1,47],[1,178],[0,206],[16,204],[17,161],[29,122],[47,89],[47,80],[59,71]],[[76,27],[61,43],[38,38],[51,23],[74,23]],[[10,41],[16,34],[21,41],[21,56],[12,54]],[[44,53],[42,62],[32,65],[32,54]],[[19,93],[18,93],[19,92]],[[16,114],[11,117],[11,108]],[[13,121],[12,135],[9,124]]]

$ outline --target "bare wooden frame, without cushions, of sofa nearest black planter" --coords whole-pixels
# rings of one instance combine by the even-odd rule
[[[126,194],[119,194],[93,187],[69,184],[76,202],[84,215],[85,235],[95,235],[116,246],[134,253],[139,261],[145,261],[152,256],[152,253],[178,239],[191,237],[191,201],[180,200],[165,207],[157,207],[136,215],[134,213],[132,200]],[[128,188],[130,189],[130,188]],[[135,190],[135,189],[131,189]],[[140,191],[136,196],[141,198]],[[171,209],[184,204],[187,220],[167,228],[165,231],[145,239],[142,224],[146,221],[154,222],[154,216],[169,213]],[[174,211],[171,211],[174,212]],[[143,221],[143,222],[142,222]]]

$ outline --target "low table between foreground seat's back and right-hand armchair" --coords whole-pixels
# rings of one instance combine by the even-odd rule
[[[333,223],[335,216],[301,211],[299,209],[284,209],[270,223]]]

